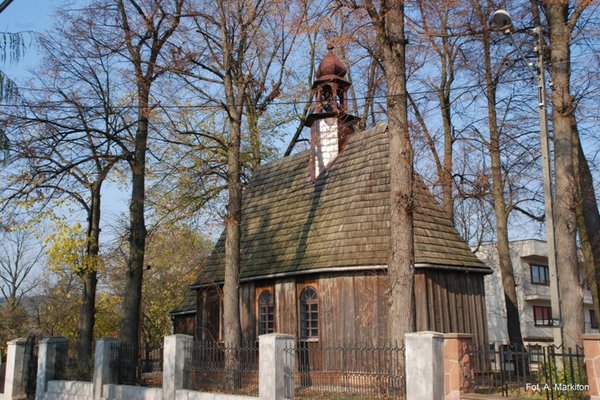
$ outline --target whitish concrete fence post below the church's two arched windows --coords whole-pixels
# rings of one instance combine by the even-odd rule
[[[259,336],[258,341],[258,397],[260,400],[294,398],[295,337],[270,333]]]

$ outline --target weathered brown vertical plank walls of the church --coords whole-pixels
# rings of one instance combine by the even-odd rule
[[[243,339],[256,340],[256,288],[272,285],[275,330],[299,335],[300,292],[307,285],[319,297],[319,341],[324,346],[387,344],[386,275],[382,271],[321,274],[308,279],[287,278],[275,283],[245,283],[240,288]],[[197,326],[214,331],[216,307],[203,304],[199,291]],[[471,333],[477,345],[487,346],[483,277],[476,273],[420,270],[415,276],[417,330]],[[202,319],[205,319],[204,322]],[[201,337],[201,335],[198,335]]]

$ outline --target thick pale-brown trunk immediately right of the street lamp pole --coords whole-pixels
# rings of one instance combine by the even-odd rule
[[[577,260],[577,185],[573,159],[575,107],[570,88],[571,30],[569,5],[543,2],[550,28],[550,73],[552,76],[552,121],[554,127],[554,170],[556,201],[556,255],[563,316],[563,343],[568,348],[582,345],[583,287]]]

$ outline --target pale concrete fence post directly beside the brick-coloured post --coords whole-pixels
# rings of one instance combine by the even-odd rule
[[[406,399],[444,399],[444,335],[414,332],[404,335]]]

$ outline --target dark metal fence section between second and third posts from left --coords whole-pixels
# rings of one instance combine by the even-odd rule
[[[94,370],[95,343],[85,348],[78,340],[72,340],[59,345],[57,351],[64,357],[59,357],[63,362],[55,366],[57,380],[65,381],[90,381]]]

